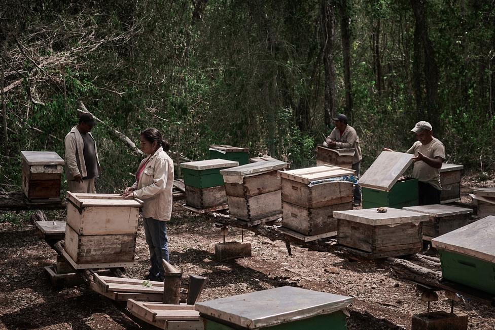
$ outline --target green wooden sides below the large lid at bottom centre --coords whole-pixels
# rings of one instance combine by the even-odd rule
[[[214,321],[204,318],[204,330],[239,330],[248,329],[246,327],[240,327],[236,325],[227,325],[220,323],[220,321]],[[345,330],[347,329],[345,323],[345,315],[342,311],[337,311],[331,314],[316,315],[310,318],[297,320],[293,322],[287,322],[277,324],[268,327],[260,327],[266,330]]]

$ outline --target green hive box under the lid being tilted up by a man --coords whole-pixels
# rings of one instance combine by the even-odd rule
[[[363,209],[392,207],[402,209],[418,205],[418,181],[406,179],[396,182],[390,191],[362,187]]]

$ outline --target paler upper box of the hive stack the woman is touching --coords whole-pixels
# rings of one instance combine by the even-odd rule
[[[79,235],[135,234],[143,202],[118,194],[67,191],[67,224]]]

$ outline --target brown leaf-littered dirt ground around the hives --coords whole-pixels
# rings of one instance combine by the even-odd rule
[[[474,186],[495,186],[493,181],[463,181],[463,202]],[[170,260],[184,275],[208,278],[200,300],[258,291],[283,285],[325,291],[355,298],[349,308],[348,329],[410,329],[413,314],[426,312],[415,285],[394,277],[390,269],[372,263],[349,261],[328,252],[270,241],[244,231],[252,243],[253,256],[219,262],[215,244],[222,241],[211,215],[197,215],[174,203],[168,223]],[[22,214],[19,214],[21,216]],[[47,212],[49,220],[63,220],[62,212]],[[241,231],[229,228],[227,240],[241,239]],[[139,226],[136,266],[127,276],[147,274],[149,251]],[[24,221],[19,226],[0,223],[0,328],[1,329],[140,329],[142,325],[86,285],[53,289],[44,266],[56,261],[56,252],[41,240],[36,229]],[[432,310],[450,311],[449,301],[439,292]],[[495,308],[468,300],[456,303],[455,311],[467,313],[469,329],[495,329]]]

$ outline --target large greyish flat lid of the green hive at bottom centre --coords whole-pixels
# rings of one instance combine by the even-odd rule
[[[344,309],[352,298],[282,286],[196,303],[196,310],[236,325],[256,329]]]

